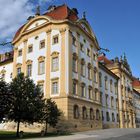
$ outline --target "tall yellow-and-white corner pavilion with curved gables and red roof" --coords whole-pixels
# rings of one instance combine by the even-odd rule
[[[13,77],[24,72],[56,101],[72,129],[102,128],[99,48],[85,15],[66,5],[30,17],[13,42]]]

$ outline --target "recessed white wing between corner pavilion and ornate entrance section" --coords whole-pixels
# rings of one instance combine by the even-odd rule
[[[99,86],[102,102],[103,128],[119,127],[118,77],[99,63]]]

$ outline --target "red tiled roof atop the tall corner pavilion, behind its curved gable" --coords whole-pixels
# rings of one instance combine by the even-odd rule
[[[50,12],[46,12],[43,15],[49,16],[54,20],[68,19],[70,21],[76,21],[78,19],[77,14],[65,4],[55,7],[54,10],[52,10]],[[13,40],[15,40],[17,38],[17,36],[20,34],[23,27],[24,27],[24,25],[19,28],[19,30],[16,32]]]

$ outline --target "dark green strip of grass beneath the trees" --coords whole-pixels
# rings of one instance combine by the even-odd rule
[[[67,134],[58,134],[58,133],[48,133],[44,137],[58,137],[64,135],[71,135]],[[16,139],[28,139],[28,138],[43,138],[40,133],[29,133],[24,132],[23,138],[16,138],[16,132],[14,131],[0,131],[0,140],[16,140]]]

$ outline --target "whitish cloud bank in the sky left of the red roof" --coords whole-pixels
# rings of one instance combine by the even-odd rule
[[[42,6],[45,2],[53,0],[0,0],[0,42],[13,38],[15,32],[27,18],[34,15],[37,4]]]

